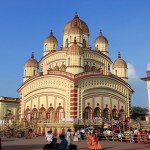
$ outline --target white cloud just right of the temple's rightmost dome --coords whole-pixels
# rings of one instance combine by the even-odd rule
[[[128,63],[128,78],[139,78],[133,64]]]

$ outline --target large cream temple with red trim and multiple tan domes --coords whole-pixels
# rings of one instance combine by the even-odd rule
[[[32,53],[25,63],[18,89],[20,114],[24,114],[22,119],[36,122],[38,132],[65,132],[74,129],[76,120],[80,126],[99,126],[101,118],[111,121],[130,116],[133,90],[126,62],[120,52],[111,61],[102,31],[95,38],[94,49],[89,35],[87,24],[75,13],[63,29],[60,49],[50,31],[41,60],[38,62]]]

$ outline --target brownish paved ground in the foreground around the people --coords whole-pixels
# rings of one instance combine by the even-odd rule
[[[58,141],[59,142],[59,141]],[[150,150],[150,144],[100,141],[103,150]],[[2,139],[2,150],[42,150],[46,141],[44,137],[33,139],[7,138]],[[79,150],[88,150],[86,141],[75,143]]]

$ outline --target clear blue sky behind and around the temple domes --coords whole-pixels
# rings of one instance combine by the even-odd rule
[[[140,78],[150,70],[149,8],[149,0],[0,0],[0,96],[19,96],[24,63],[32,52],[40,60],[51,29],[60,47],[63,28],[78,11],[90,29],[91,47],[102,29],[112,61],[120,51],[127,62],[132,106],[147,107],[146,82]]]

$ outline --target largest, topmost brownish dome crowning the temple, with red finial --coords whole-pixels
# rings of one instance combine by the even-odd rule
[[[81,28],[84,34],[89,35],[89,28],[87,24],[83,20],[79,19],[77,12],[75,13],[74,18],[66,23],[63,34],[68,33],[71,27],[74,27],[75,24]]]

